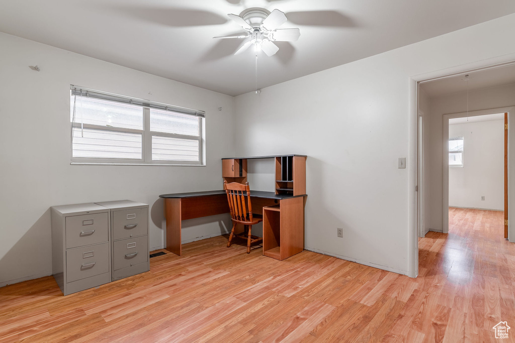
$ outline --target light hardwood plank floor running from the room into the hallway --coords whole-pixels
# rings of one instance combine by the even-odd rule
[[[420,239],[418,278],[304,251],[277,261],[227,237],[150,272],[63,297],[53,277],[0,288],[0,341],[515,341],[515,244],[503,212],[450,209]]]

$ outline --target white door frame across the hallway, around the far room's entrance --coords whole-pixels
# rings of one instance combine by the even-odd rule
[[[515,192],[510,192],[510,185],[515,184],[515,152],[510,149],[510,146],[515,142],[515,106],[500,107],[496,109],[487,109],[479,111],[469,111],[460,113],[451,113],[443,115],[443,199],[442,199],[442,232],[449,232],[449,119],[482,116],[486,114],[508,113],[508,219],[515,218],[515,211],[513,204],[515,204]],[[508,220],[508,240],[515,242],[515,225],[512,225]]]

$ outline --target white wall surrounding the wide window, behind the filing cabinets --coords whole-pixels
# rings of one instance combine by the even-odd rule
[[[41,71],[29,69],[36,64]],[[159,194],[221,188],[220,158],[234,154],[233,97],[4,33],[0,81],[0,286],[52,273],[50,206],[148,203],[155,249],[163,247]],[[71,166],[70,84],[204,110],[206,166]],[[220,234],[227,218],[185,221],[183,241]]]

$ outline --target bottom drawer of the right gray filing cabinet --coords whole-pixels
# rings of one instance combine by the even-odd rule
[[[113,244],[113,270],[148,261],[147,236],[116,241]]]

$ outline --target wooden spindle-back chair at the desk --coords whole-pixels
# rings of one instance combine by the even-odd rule
[[[262,237],[252,236],[251,234],[252,225],[262,222],[263,219],[252,215],[248,182],[242,185],[236,182],[228,184],[227,181],[224,181],[224,189],[227,193],[227,201],[229,202],[232,220],[232,230],[229,236],[229,242],[227,242],[227,247],[231,246],[232,239],[235,236],[234,229],[236,228],[236,224],[243,224],[245,228],[244,232],[236,236],[247,239],[247,254],[249,254],[250,245],[252,243],[263,241]],[[246,192],[246,197],[244,192]]]

